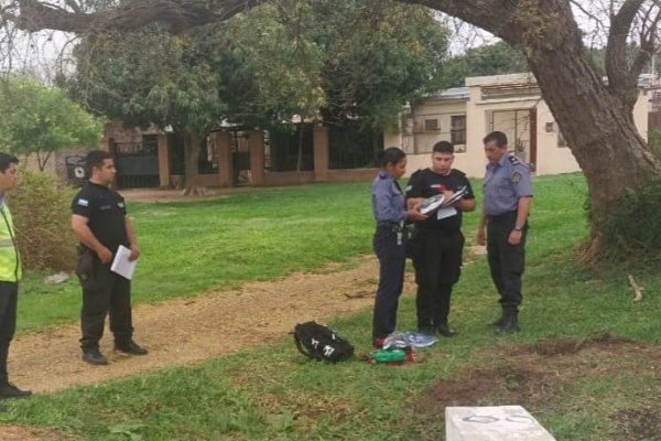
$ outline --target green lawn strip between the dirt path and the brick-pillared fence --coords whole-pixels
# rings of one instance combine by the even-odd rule
[[[271,280],[370,252],[370,184],[319,184],[240,192],[208,202],[129,204],[142,257],[133,303]],[[19,332],[76,320],[72,279],[21,284]]]

